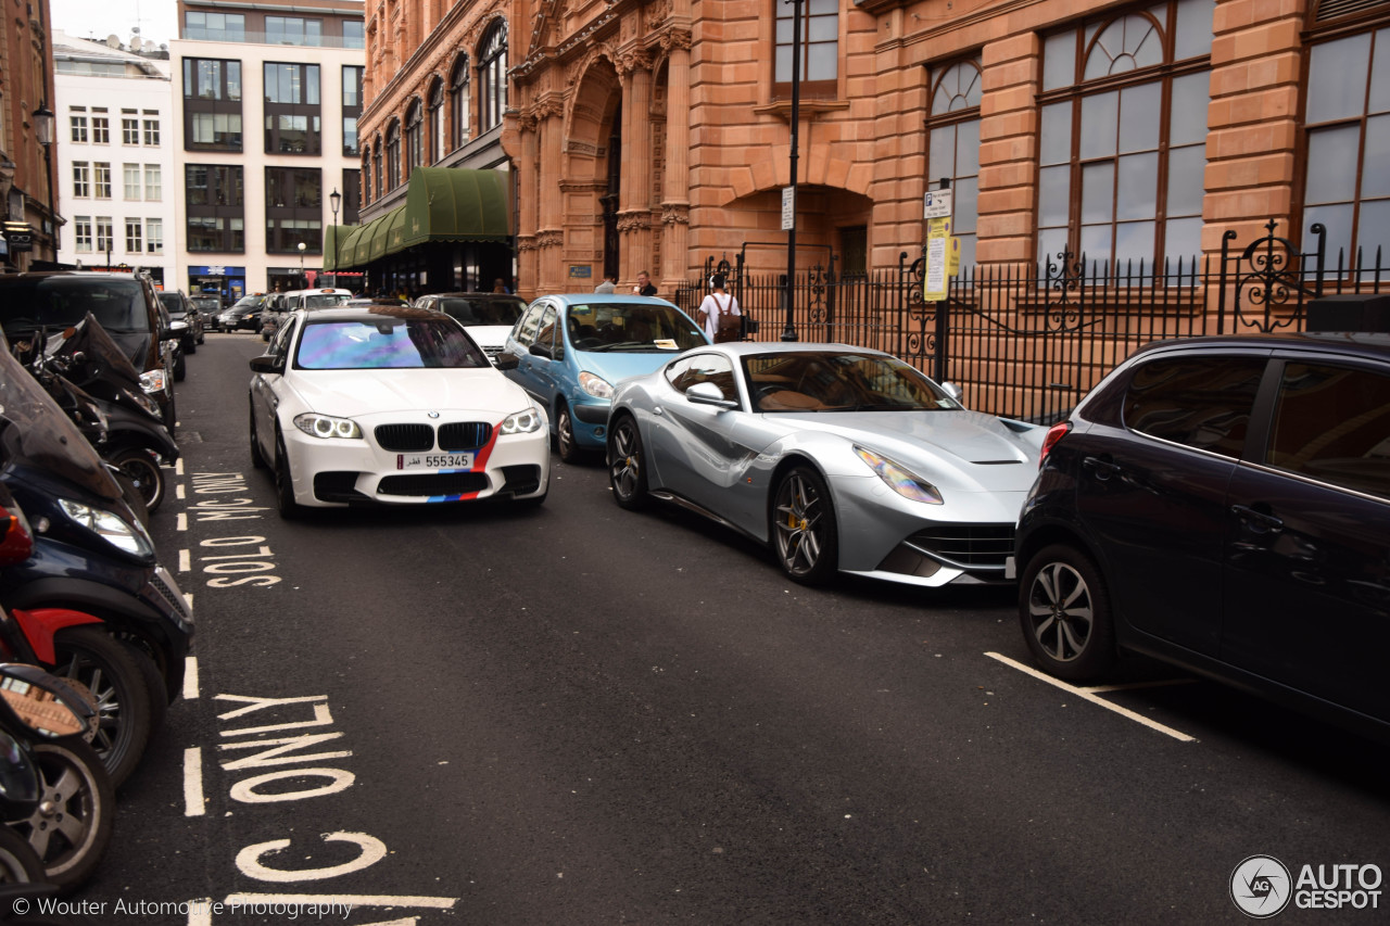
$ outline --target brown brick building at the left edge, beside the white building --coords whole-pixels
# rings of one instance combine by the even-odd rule
[[[11,4],[0,17],[0,273],[53,266],[63,218],[54,188],[49,0]]]

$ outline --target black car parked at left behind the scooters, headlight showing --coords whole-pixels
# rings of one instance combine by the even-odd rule
[[[160,403],[174,430],[174,367],[178,342],[168,313],[146,277],[53,271],[0,274],[0,328],[13,348],[40,331],[56,334],[92,313],[140,373],[140,388]]]

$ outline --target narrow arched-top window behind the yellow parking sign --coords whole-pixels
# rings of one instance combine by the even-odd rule
[[[927,181],[951,181],[951,234],[960,243],[960,263],[974,263],[980,216],[980,57],[931,72],[927,117]]]

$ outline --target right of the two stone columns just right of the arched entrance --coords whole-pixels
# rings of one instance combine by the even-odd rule
[[[666,177],[662,181],[662,267],[657,288],[674,293],[688,273],[691,227],[691,33],[662,35],[666,64]]]

